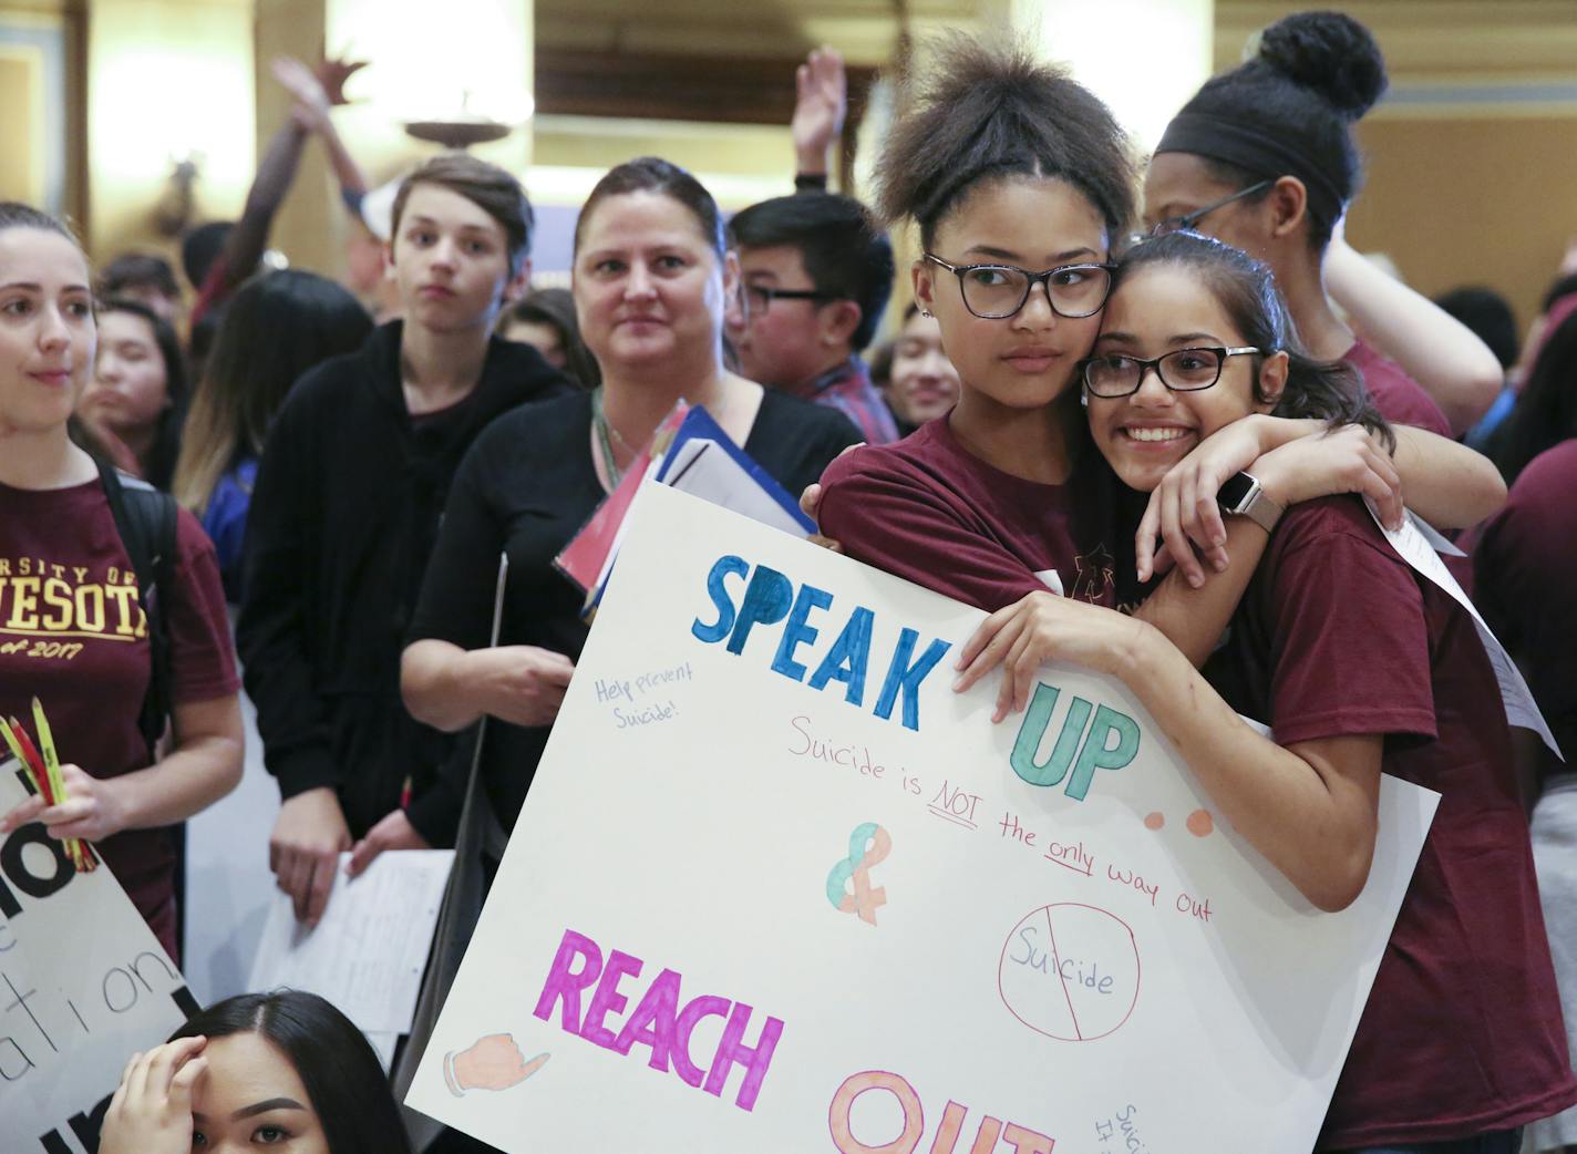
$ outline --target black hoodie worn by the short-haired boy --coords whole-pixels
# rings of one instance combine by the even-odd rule
[[[399,353],[394,322],[292,388],[248,514],[237,648],[282,796],[333,787],[360,839],[408,782],[410,823],[448,845],[460,799],[438,769],[454,738],[401,702],[405,626],[472,441],[500,413],[574,386],[530,345],[495,337],[462,402],[412,418]]]

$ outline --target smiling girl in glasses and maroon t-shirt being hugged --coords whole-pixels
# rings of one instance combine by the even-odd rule
[[[1118,262],[1080,378],[1096,446],[1139,492],[1251,415],[1389,435],[1350,366],[1301,350],[1269,270],[1195,233]],[[1287,511],[1205,676],[1146,626],[1036,594],[987,618],[960,686],[1005,661],[1000,719],[1052,659],[1123,678],[1222,817],[1322,910],[1367,881],[1381,772],[1441,795],[1318,1149],[1509,1152],[1517,1127],[1577,1100],[1495,673],[1467,612],[1355,497]]]

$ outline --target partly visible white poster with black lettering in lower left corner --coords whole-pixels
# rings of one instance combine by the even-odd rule
[[[0,761],[0,813],[25,798]],[[39,823],[0,842],[0,1148],[96,1149],[126,1059],[196,1009],[109,867],[77,873]]]

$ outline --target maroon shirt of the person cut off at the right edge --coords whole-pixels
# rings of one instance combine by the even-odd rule
[[[1577,761],[1577,440],[1534,457],[1473,553],[1478,605],[1522,662],[1539,711],[1566,754],[1539,746],[1541,769]]]

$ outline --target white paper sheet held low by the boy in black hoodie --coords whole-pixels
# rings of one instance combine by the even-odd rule
[[[257,946],[251,987],[287,985],[328,998],[366,1034],[404,1034],[416,1012],[453,850],[378,854],[360,878],[341,854],[323,919],[311,930],[276,894]]]

